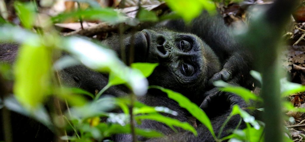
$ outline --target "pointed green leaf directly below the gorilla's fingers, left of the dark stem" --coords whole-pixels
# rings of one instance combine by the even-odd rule
[[[224,88],[219,88],[219,90],[224,91],[224,92],[231,92],[236,95],[239,95],[246,102],[249,102],[250,100],[262,101],[262,99],[259,96],[251,93],[250,90],[243,88],[243,87],[228,86],[228,87],[224,87]]]

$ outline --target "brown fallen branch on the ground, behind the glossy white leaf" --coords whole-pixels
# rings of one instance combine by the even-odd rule
[[[127,26],[127,25],[126,25]],[[94,36],[98,33],[108,33],[112,31],[116,31],[119,25],[110,25],[108,23],[99,23],[95,26],[88,27],[86,29],[78,29],[70,33],[64,33],[64,36],[71,36],[71,35],[82,35],[82,36]]]

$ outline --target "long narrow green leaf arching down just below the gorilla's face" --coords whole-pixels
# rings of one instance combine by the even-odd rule
[[[188,112],[190,112],[192,114],[192,116],[194,116],[202,124],[204,124],[210,130],[212,136],[216,139],[216,136],[215,136],[215,133],[214,133],[214,130],[213,130],[213,127],[212,127],[212,124],[211,124],[211,121],[210,121],[209,117],[195,103],[191,102],[184,95],[182,95],[180,93],[177,93],[177,92],[174,92],[172,90],[165,89],[165,88],[160,87],[160,86],[150,86],[150,88],[157,88],[157,89],[160,89],[161,91],[167,93],[167,95],[170,99],[173,99],[176,102],[178,102],[179,106],[188,110]]]

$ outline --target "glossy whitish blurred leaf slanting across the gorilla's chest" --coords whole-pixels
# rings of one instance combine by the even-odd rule
[[[146,94],[148,86],[146,78],[140,71],[128,68],[120,61],[113,50],[77,37],[70,37],[65,41],[66,44],[63,46],[63,49],[72,53],[74,57],[80,60],[87,67],[101,72],[111,71],[110,74],[112,75],[109,77],[108,84],[113,82],[113,84],[117,84],[124,81],[127,82],[127,86],[131,88],[135,95]],[[113,76],[119,78],[121,82],[113,81]],[[98,99],[99,95],[95,98]]]

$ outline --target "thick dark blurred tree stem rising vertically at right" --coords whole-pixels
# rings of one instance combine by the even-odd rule
[[[282,30],[295,5],[295,0],[277,0],[264,12],[257,16],[248,28],[248,32],[240,36],[245,45],[252,50],[256,70],[262,73],[263,86],[261,96],[264,99],[264,141],[283,141],[283,119],[279,83],[278,51]]]

